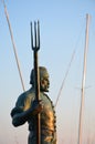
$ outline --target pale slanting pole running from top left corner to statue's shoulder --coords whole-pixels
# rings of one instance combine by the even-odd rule
[[[7,10],[7,6],[6,6],[6,3],[4,3],[4,0],[2,0],[2,3],[3,3],[3,7],[4,7],[4,14],[6,14],[6,18],[7,18],[7,21],[8,21],[8,25],[9,25],[9,31],[10,31],[10,35],[11,35],[11,41],[12,41],[12,45],[13,45],[13,52],[14,52],[14,56],[15,56],[15,61],[17,61],[17,65],[18,65],[18,71],[19,71],[19,75],[20,75],[22,89],[23,89],[23,91],[25,91],[24,84],[23,84],[22,74],[21,74],[21,70],[20,70],[20,64],[19,64],[17,51],[15,51],[15,44],[14,44],[14,40],[13,40],[13,34],[12,34],[12,30],[11,30],[11,24],[10,24],[10,21],[9,21],[9,14],[8,14],[8,10]]]

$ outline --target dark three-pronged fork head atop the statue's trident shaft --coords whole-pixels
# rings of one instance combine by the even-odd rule
[[[31,22],[31,45],[33,51],[39,51],[40,50],[40,23],[38,21],[34,21],[34,34],[33,34],[33,28],[32,28],[32,22]]]

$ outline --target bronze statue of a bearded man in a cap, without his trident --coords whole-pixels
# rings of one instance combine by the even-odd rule
[[[41,115],[41,144],[56,144],[56,117],[53,103],[48,96],[50,81],[49,73],[44,66],[39,68],[40,72],[40,101],[35,100],[34,70],[31,72],[30,90],[23,92],[11,111],[12,124],[20,126],[28,122],[28,144],[36,144],[36,115]]]

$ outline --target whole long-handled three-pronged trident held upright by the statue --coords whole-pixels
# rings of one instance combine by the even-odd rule
[[[39,21],[34,21],[34,35],[31,22],[31,45],[33,50],[33,60],[34,60],[34,89],[35,89],[35,100],[40,101],[40,73],[38,64],[38,51],[40,50],[40,24]],[[36,144],[40,144],[40,113],[36,115]]]

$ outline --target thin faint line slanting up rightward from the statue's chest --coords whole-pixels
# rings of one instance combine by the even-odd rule
[[[83,25],[84,25],[84,24],[83,24]],[[81,30],[81,32],[80,32],[78,39],[81,38],[82,31],[83,31],[83,27],[82,27],[82,30]],[[74,59],[74,56],[75,56],[76,48],[77,48],[77,44],[78,44],[78,39],[77,39],[77,41],[76,41],[75,49],[74,49],[74,51],[73,51],[73,53],[72,53],[71,61],[70,61],[70,63],[68,63],[67,70],[66,70],[66,72],[65,72],[65,76],[64,76],[63,82],[62,82],[62,85],[61,85],[61,88],[60,88],[60,91],[59,91],[59,94],[57,94],[57,97],[56,97],[56,102],[55,102],[55,105],[54,105],[55,107],[56,107],[57,102],[59,102],[59,100],[60,100],[61,92],[62,92],[62,90],[63,90],[63,86],[64,86],[64,84],[65,84],[66,78],[67,78],[68,72],[70,72],[70,68],[71,68],[72,62],[73,62],[73,59]]]

